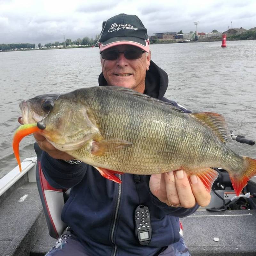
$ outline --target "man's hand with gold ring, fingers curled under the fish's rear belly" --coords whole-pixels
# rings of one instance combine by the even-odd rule
[[[205,207],[211,200],[203,182],[194,174],[188,179],[183,170],[151,175],[149,188],[160,201],[172,207],[192,208],[196,203]]]

